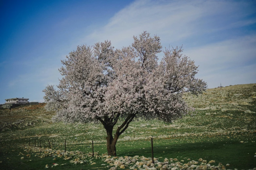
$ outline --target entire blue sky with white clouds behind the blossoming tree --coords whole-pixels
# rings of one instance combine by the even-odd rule
[[[2,1],[0,104],[43,102],[58,68],[77,45],[129,46],[144,30],[162,46],[181,46],[208,88],[256,83],[255,1]],[[162,58],[162,53],[159,58]]]

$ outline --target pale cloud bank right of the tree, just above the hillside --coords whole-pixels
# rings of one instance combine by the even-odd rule
[[[237,37],[222,42],[185,50],[199,65],[197,77],[208,88],[223,85],[256,83],[256,35]]]

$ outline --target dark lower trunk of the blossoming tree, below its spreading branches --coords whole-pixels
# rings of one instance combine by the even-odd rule
[[[116,135],[114,138],[113,138],[113,135],[112,135],[112,131],[113,131],[113,127],[109,127],[106,129],[107,131],[107,150],[108,150],[108,155],[111,155],[111,156],[116,156],[116,148],[115,148],[115,145],[116,145],[116,141],[118,139],[118,136]]]

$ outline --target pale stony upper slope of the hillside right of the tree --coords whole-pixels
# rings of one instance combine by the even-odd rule
[[[182,98],[196,110],[238,110],[251,113],[246,106],[252,106],[256,99],[256,84],[208,89],[198,96],[186,92]]]

